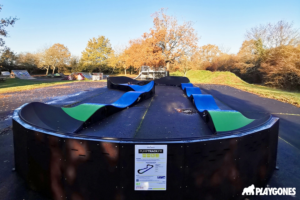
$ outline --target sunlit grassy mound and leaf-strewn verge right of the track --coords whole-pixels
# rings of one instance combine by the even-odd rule
[[[180,72],[170,73],[170,76],[182,76]],[[261,97],[277,99],[282,102],[291,103],[300,107],[300,93],[287,92],[266,86],[249,84],[230,72],[210,72],[205,70],[188,71],[187,78],[191,83],[199,84],[219,84],[257,94]]]

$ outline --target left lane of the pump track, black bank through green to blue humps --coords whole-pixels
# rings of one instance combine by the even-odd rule
[[[139,88],[133,87],[133,89],[138,91],[124,93],[111,104],[84,103],[73,108],[60,108],[32,102],[20,109],[19,117],[24,122],[42,130],[63,134],[77,133],[84,124],[94,123],[152,97],[154,82],[151,81],[147,85]]]

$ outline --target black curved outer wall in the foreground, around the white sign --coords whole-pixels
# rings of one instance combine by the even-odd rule
[[[134,190],[134,147],[153,141],[88,139],[47,133],[13,118],[16,171],[55,199],[241,199],[264,187],[276,166],[279,120],[227,137],[167,144],[167,190]]]

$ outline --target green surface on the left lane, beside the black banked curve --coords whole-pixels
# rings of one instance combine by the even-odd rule
[[[87,121],[99,108],[102,108],[104,105],[95,105],[95,104],[80,104],[73,108],[62,108],[65,113],[70,115],[72,118],[75,118],[80,121]]]

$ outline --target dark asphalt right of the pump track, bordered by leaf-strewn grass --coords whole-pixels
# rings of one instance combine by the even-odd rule
[[[196,84],[224,105],[241,112],[247,118],[261,118],[268,114],[280,118],[277,170],[268,187],[295,187],[295,196],[251,196],[249,199],[300,199],[300,108],[274,99],[262,98],[224,85]]]

